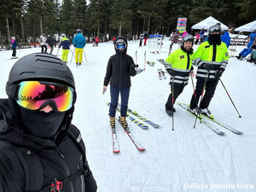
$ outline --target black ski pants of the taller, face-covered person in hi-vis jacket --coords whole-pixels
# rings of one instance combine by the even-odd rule
[[[204,79],[203,80],[197,79],[195,93],[193,93],[193,95],[191,97],[191,101],[190,101],[190,108],[198,107],[198,102],[199,102],[199,98],[202,94],[204,83],[205,83]],[[208,106],[210,105],[210,102],[212,100],[212,97],[214,95],[214,92],[216,90],[217,84],[218,84],[218,80],[217,81],[207,81],[205,94],[202,98],[200,108],[202,108],[202,109],[208,108]]]

